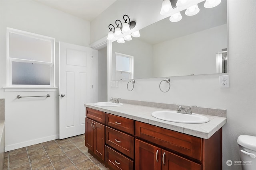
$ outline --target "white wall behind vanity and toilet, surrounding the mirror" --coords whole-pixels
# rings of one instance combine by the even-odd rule
[[[121,3],[121,2],[119,2]],[[114,23],[122,14],[132,16],[140,25],[147,25],[150,21],[159,19],[159,5],[144,3],[143,12],[138,12],[136,4],[118,6],[112,11],[104,11],[104,16],[98,17],[91,24],[103,25]],[[158,86],[162,78],[139,79],[134,84],[134,90],[126,89],[128,81],[119,81],[119,88],[111,88],[110,96],[128,100],[141,100],[149,102],[178,103],[184,105],[197,105],[201,107],[227,109],[228,122],[223,127],[223,169],[241,170],[240,165],[227,166],[227,160],[240,160],[237,138],[241,134],[256,136],[256,1],[255,0],[229,0],[228,3],[228,75],[230,88],[219,88],[219,75],[178,76],[171,78],[171,89],[167,93],[160,92]],[[148,13],[152,13],[149,17]],[[154,17],[154,15],[156,15]],[[108,16],[108,17],[106,17]],[[104,19],[105,17],[105,19]],[[109,21],[109,22],[108,22]],[[104,27],[107,27],[105,25]],[[142,27],[139,27],[142,28]],[[100,29],[100,28],[99,28]],[[107,28],[106,33],[107,34]],[[102,35],[102,30],[94,30],[92,36]],[[103,36],[102,36],[103,37]],[[94,39],[92,38],[91,41]],[[184,61],[186,62],[186,61]],[[213,146],[214,147],[214,146]]]

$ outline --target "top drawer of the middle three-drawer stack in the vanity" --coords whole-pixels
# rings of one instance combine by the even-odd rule
[[[134,120],[106,113],[106,125],[134,135]]]

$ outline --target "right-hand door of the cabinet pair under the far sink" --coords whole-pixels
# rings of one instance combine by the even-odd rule
[[[105,160],[105,125],[95,121],[94,123],[94,153]]]

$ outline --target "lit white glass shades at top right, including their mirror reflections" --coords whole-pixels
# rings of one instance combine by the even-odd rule
[[[172,0],[164,0],[162,2],[162,7],[161,7],[161,11],[160,11],[161,15],[171,14],[171,12],[174,8],[183,7],[183,6],[189,6],[185,11],[185,14],[187,16],[194,16],[194,15],[198,14],[198,12],[200,11],[197,4],[190,6],[192,0],[178,0],[176,3],[176,6],[174,6],[174,8],[172,8],[171,2],[172,2]],[[218,4],[220,4],[220,2],[221,2],[221,0],[206,0],[206,2],[204,3],[204,7],[205,8],[213,8],[213,7],[217,6]],[[182,19],[182,16],[181,16],[180,12],[177,12],[177,13],[171,15],[169,20],[172,22],[178,22],[181,19]]]

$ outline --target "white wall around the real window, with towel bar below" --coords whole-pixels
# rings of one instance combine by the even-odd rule
[[[35,1],[1,0],[1,97],[6,103],[6,151],[58,138],[58,91],[4,92],[6,86],[6,27],[88,47],[90,23]],[[58,43],[56,43],[58,48]],[[56,49],[58,52],[58,49]],[[58,65],[58,55],[56,55]],[[58,86],[58,66],[56,67]],[[50,94],[50,98],[22,98]]]

